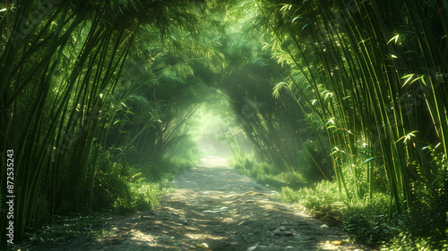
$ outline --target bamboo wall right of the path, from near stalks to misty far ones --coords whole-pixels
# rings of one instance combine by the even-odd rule
[[[435,180],[446,176],[448,125],[441,6],[435,1],[246,4],[253,12],[246,29],[255,29],[252,34],[262,34],[257,38],[263,41],[262,52],[246,63],[263,70],[244,70],[259,78],[252,90],[246,85],[246,96],[258,97],[250,103],[260,104],[259,115],[239,117],[259,155],[301,172],[303,156],[309,155],[313,176],[334,177],[349,200],[390,193],[389,217],[409,212],[418,189],[438,197]],[[266,71],[269,76],[262,77]],[[236,111],[244,110],[244,88],[229,86]],[[277,100],[263,93],[267,88]]]

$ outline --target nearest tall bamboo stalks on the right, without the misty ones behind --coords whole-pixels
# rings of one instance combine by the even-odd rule
[[[314,107],[340,189],[371,197],[383,176],[391,211],[409,210],[413,186],[431,188],[446,170],[444,12],[430,1],[257,5],[271,33],[266,46],[292,65],[274,92],[287,88]],[[348,173],[368,188],[347,189]]]

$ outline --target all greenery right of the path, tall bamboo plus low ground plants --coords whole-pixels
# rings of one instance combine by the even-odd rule
[[[247,30],[263,34],[263,47],[247,61],[270,74],[245,85],[258,103],[240,116],[254,148],[236,149],[232,165],[285,183],[280,197],[317,217],[336,209],[330,216],[356,241],[446,250],[446,13],[437,4],[256,1]],[[229,104],[243,113],[235,90]]]

